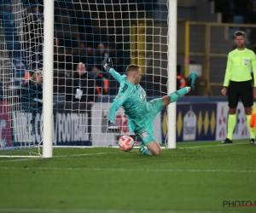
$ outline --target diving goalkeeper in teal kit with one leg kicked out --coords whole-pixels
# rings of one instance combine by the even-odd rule
[[[196,73],[190,73],[189,83],[183,89],[179,89],[160,99],[147,101],[146,92],[139,84],[142,79],[142,71],[139,66],[127,66],[126,75],[123,76],[114,71],[111,59],[103,61],[103,67],[120,83],[119,94],[114,98],[113,104],[109,109],[108,131],[113,133],[120,132],[119,127],[114,124],[114,120],[115,112],[118,111],[119,107],[123,107],[128,118],[129,130],[143,141],[142,146],[139,148],[140,152],[146,155],[159,155],[161,148],[154,138],[154,117],[163,107],[177,101],[181,96],[194,89]]]

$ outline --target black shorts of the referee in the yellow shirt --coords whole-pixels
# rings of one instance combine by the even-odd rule
[[[230,108],[236,108],[239,99],[241,99],[243,107],[252,107],[253,85],[251,81],[230,81],[230,85],[228,87],[228,99]]]

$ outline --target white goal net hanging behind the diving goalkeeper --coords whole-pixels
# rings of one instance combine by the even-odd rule
[[[0,3],[1,154],[38,153],[33,147],[44,144],[45,126],[52,128],[53,146],[116,146],[120,135],[107,133],[107,124],[108,109],[118,93],[119,83],[103,70],[102,61],[112,58],[113,67],[120,74],[125,74],[130,64],[141,66],[141,85],[148,101],[166,95],[167,4],[156,0],[55,1],[54,52],[47,53],[52,55],[54,67],[53,120],[45,124],[43,85],[49,71],[44,68],[43,53],[44,33],[47,33],[44,31],[50,31],[44,26],[48,10],[41,0],[3,0]],[[176,55],[176,49],[173,52]],[[127,123],[123,110],[119,109],[116,124],[122,135],[131,135],[139,144]],[[166,134],[166,110],[163,110],[154,119],[154,135],[164,143]]]

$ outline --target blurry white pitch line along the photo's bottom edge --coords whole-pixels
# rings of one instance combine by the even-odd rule
[[[0,209],[3,213],[221,213],[221,211],[187,210],[60,210],[60,209]],[[229,211],[230,212],[230,211]],[[233,213],[235,213],[233,211]]]

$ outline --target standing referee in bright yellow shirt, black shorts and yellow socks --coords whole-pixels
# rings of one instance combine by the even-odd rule
[[[250,143],[255,144],[255,135],[250,128],[253,94],[256,95],[256,60],[253,51],[245,48],[246,33],[235,33],[236,49],[228,55],[227,68],[224,78],[222,95],[228,92],[229,118],[228,135],[221,143],[232,143],[233,132],[236,127],[236,107],[239,99],[247,115],[247,126],[250,132]],[[254,87],[251,83],[251,70],[253,67]]]

